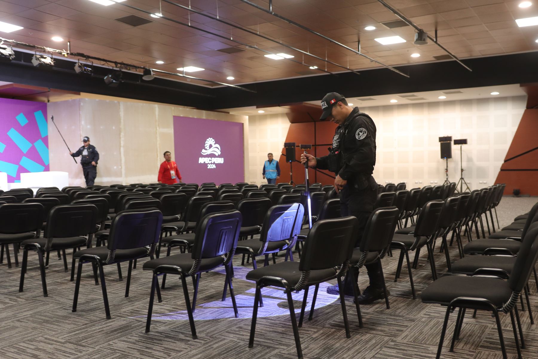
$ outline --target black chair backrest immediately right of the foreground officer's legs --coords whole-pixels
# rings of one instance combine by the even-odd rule
[[[381,207],[370,214],[359,249],[362,252],[382,251],[392,242],[400,211],[397,207]]]

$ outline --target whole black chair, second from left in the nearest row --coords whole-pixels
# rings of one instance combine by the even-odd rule
[[[98,209],[94,205],[64,205],[56,206],[51,210],[47,219],[47,228],[44,238],[32,238],[21,243],[23,247],[23,263],[20,270],[19,292],[23,291],[24,275],[28,263],[28,251],[37,250],[39,268],[41,271],[41,285],[43,296],[47,297],[47,282],[45,278],[45,262],[43,255],[51,250],[61,250],[63,254],[63,266],[67,271],[66,249],[73,248],[73,255],[77,247],[88,247],[88,234],[95,233]],[[71,268],[73,274],[75,268]]]

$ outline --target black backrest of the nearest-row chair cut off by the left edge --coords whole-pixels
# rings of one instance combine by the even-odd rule
[[[17,234],[43,227],[45,208],[41,203],[6,203],[0,205],[0,233]]]

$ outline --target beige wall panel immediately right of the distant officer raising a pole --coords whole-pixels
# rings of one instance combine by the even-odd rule
[[[80,100],[80,121],[81,135],[88,136],[99,152],[95,184],[122,183],[119,102],[84,98]]]

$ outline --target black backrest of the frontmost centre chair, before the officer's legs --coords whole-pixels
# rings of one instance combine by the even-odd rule
[[[357,239],[357,227],[357,218],[353,216],[314,223],[303,247],[299,270],[336,268],[348,262]]]

